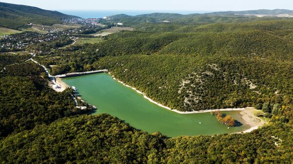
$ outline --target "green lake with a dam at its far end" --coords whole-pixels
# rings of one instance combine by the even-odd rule
[[[209,112],[179,114],[162,108],[145,99],[142,94],[115,81],[108,73],[62,80],[69,86],[77,87],[79,95],[87,103],[97,107],[93,115],[108,113],[124,120],[134,128],[149,133],[159,131],[168,137],[176,137],[234,133],[250,128],[249,125],[244,124],[228,129]],[[241,122],[239,111],[223,111],[222,113],[227,113]]]

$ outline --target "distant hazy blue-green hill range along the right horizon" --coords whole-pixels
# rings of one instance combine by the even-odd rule
[[[258,18],[261,15],[264,18]],[[120,21],[127,23],[139,22],[175,22],[175,23],[230,23],[230,22],[248,22],[255,20],[285,19],[293,16],[292,10],[250,10],[250,11],[225,11],[212,12],[204,14],[174,14],[174,13],[151,13],[137,16],[128,16],[119,14],[111,16],[111,21]]]

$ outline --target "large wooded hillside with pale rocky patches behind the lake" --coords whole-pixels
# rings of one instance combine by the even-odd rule
[[[292,24],[143,24],[68,52],[72,55],[60,52],[56,60],[39,60],[59,65],[53,74],[109,69],[153,100],[181,111],[275,104],[293,91]]]

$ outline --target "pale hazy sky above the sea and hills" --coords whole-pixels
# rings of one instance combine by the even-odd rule
[[[239,11],[293,9],[293,0],[0,0],[47,10]]]

